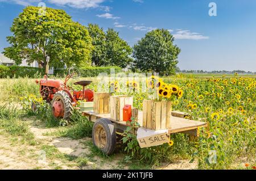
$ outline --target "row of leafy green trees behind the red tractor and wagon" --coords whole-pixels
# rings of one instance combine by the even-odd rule
[[[112,28],[104,31],[97,24],[82,26],[73,22],[64,10],[26,7],[10,28],[7,37],[10,47],[6,57],[16,64],[22,60],[46,66],[51,57],[53,68],[67,66],[119,66],[133,71],[155,71],[160,75],[175,74],[180,49],[174,45],[174,36],[164,29],[147,32],[133,48]]]

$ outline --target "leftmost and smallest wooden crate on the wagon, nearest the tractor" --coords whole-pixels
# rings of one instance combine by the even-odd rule
[[[93,95],[93,112],[94,113],[109,113],[109,97],[106,92],[94,93]]]

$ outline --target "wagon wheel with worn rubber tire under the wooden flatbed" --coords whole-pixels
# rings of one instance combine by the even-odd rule
[[[112,122],[104,118],[98,119],[93,125],[92,140],[105,154],[113,153],[117,140]]]

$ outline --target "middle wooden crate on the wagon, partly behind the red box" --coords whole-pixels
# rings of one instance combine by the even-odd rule
[[[133,108],[133,97],[126,95],[110,96],[110,117],[117,121],[123,121],[123,107],[131,105]]]

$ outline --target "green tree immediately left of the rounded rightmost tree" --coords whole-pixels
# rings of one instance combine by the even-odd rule
[[[106,58],[108,65],[119,66],[126,68],[133,60],[131,53],[133,49],[122,40],[117,31],[109,28],[106,32]]]

